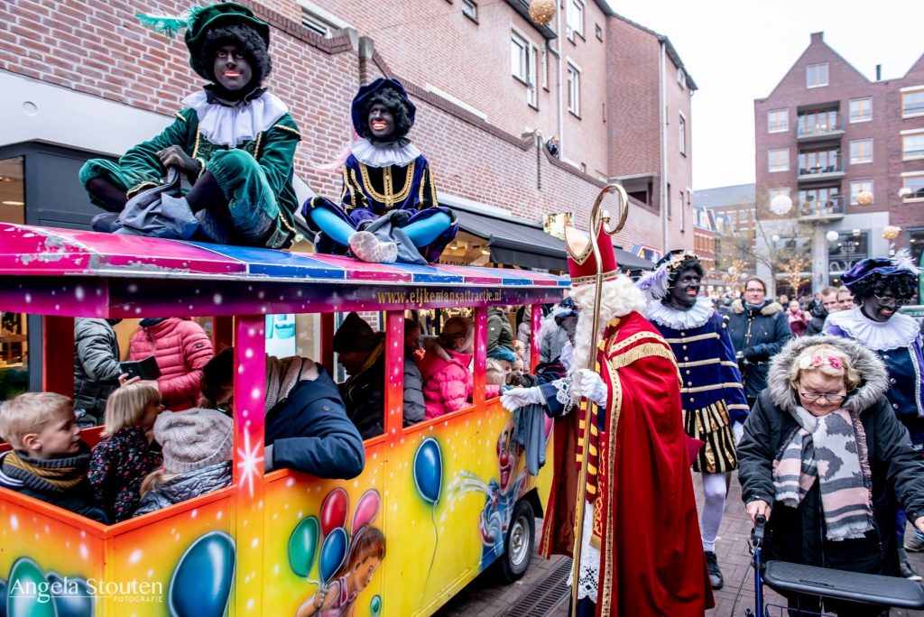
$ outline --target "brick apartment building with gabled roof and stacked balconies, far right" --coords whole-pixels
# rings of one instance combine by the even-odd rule
[[[902,78],[876,72],[870,81],[816,32],[754,102],[757,217],[770,236],[759,234],[757,249],[810,254],[803,291],[838,284],[857,260],[897,248],[919,259],[924,248],[924,56]],[[857,199],[865,191],[869,205]],[[781,194],[793,207],[777,215],[769,204]],[[889,225],[902,227],[893,240],[882,235]]]

